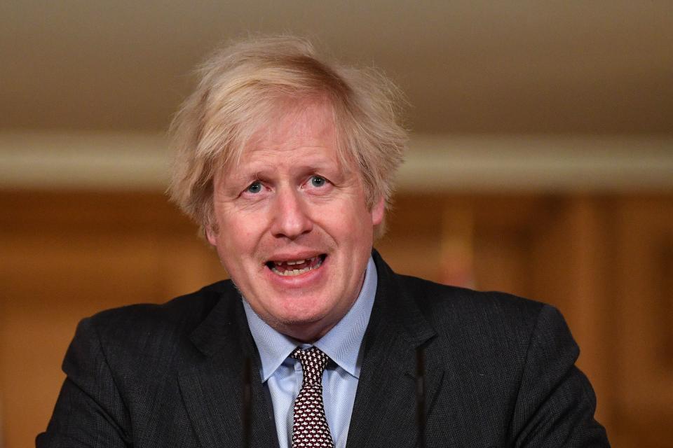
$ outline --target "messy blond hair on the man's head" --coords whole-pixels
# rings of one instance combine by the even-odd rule
[[[294,104],[324,102],[332,110],[341,162],[358,167],[367,207],[393,193],[407,132],[399,122],[399,90],[374,69],[320,59],[303,38],[249,38],[217,50],[197,70],[200,81],[170,127],[176,155],[168,193],[200,225],[216,231],[213,177],[239,160],[255,132]],[[383,225],[375,230],[383,235]]]

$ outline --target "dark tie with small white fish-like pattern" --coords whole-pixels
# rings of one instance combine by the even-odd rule
[[[322,372],[329,356],[315,347],[306,350],[297,347],[290,356],[299,360],[304,371],[301,391],[294,400],[292,448],[334,448],[322,405]]]

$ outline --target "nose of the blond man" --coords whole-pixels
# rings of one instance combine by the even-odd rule
[[[274,237],[296,239],[311,232],[313,221],[309,216],[309,205],[301,193],[293,188],[281,188],[273,198],[273,223],[271,232]]]

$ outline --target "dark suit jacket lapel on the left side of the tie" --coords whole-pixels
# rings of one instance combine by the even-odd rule
[[[268,400],[259,379],[259,355],[233,286],[194,330],[200,356],[179,372],[179,386],[193,428],[205,448],[243,447],[243,388],[251,362],[252,447],[273,447]]]

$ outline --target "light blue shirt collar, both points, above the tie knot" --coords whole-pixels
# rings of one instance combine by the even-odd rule
[[[362,337],[365,336],[367,323],[369,323],[369,315],[372,314],[377,283],[376,265],[372,257],[369,257],[365,281],[362,283],[360,295],[355,303],[337,325],[334,325],[325,336],[313,344],[325,352],[339,367],[356,378],[360,377],[358,355]],[[243,300],[243,309],[245,309],[245,317],[252,338],[259,350],[262,381],[266,381],[301,343],[271,328],[254,312],[247,300]]]

